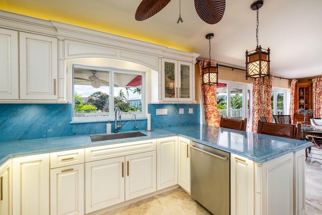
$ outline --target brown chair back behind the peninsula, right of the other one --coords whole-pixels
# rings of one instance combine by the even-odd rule
[[[300,139],[301,124],[278,124],[258,121],[257,133]]]

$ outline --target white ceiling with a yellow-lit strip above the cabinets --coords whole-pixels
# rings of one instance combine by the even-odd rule
[[[41,19],[62,21],[106,31],[125,37],[166,45],[201,54],[219,64],[245,68],[246,49],[256,48],[255,0],[226,0],[222,20],[204,23],[197,15],[193,0],[171,2],[145,21],[134,14],[141,0],[2,0],[0,8]],[[78,21],[78,23],[76,22]],[[264,0],[259,10],[259,45],[271,50],[271,74],[283,78],[322,75],[322,1]],[[80,24],[79,24],[80,23]]]

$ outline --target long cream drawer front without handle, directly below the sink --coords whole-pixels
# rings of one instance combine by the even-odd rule
[[[85,161],[98,161],[108,158],[154,151],[155,149],[156,139],[111,144],[101,147],[91,147],[85,149]]]

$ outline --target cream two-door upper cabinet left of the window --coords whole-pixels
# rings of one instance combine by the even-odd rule
[[[57,41],[0,28],[0,102],[57,102]]]

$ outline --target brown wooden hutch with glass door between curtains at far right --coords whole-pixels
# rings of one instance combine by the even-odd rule
[[[312,109],[312,89],[311,83],[297,83],[294,95],[294,118],[293,123],[303,122],[304,115],[299,114],[296,110],[303,108],[304,110]],[[310,118],[313,116],[306,116],[306,124],[310,125]]]

